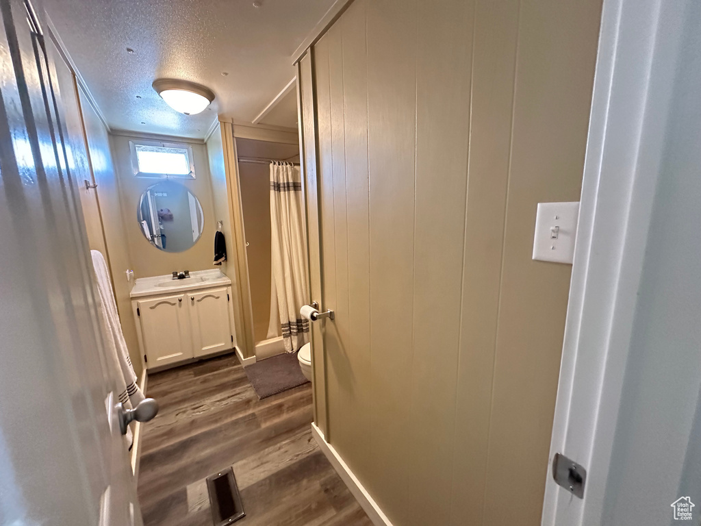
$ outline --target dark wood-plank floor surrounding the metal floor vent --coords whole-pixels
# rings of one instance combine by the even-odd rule
[[[241,526],[372,526],[311,436],[311,385],[258,400],[236,355],[149,375],[142,427],[145,526],[213,524],[206,478],[233,466]]]

